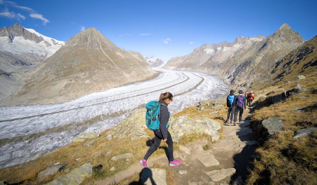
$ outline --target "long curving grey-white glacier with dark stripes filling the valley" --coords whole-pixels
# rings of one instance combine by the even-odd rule
[[[158,77],[127,84],[56,104],[0,107],[0,168],[33,160],[88,132],[112,128],[133,109],[171,92],[171,114],[202,100],[228,94],[228,84],[217,76],[161,67]]]

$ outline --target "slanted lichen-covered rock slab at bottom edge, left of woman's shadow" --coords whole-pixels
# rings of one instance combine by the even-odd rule
[[[61,184],[80,184],[85,178],[91,176],[93,168],[91,163],[86,163],[73,171],[71,171],[66,176],[62,176],[54,181],[47,183],[47,185],[61,185]]]

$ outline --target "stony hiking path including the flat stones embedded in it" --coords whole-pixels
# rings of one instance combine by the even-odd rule
[[[254,134],[249,127],[248,116],[250,114],[251,109],[247,108],[246,112],[243,113],[242,124],[236,126],[224,121],[222,139],[211,144],[206,151],[202,148],[208,142],[206,140],[180,146],[178,151],[174,151],[174,157],[182,160],[179,166],[169,167],[175,182],[190,185],[231,184],[236,179],[240,179],[240,182],[241,179],[244,180],[249,173],[248,169],[252,168],[250,162],[253,160],[253,154],[257,147]],[[168,159],[166,155],[157,158],[150,157],[147,163],[149,169],[155,163],[168,166]],[[135,164],[125,171],[98,182],[98,184],[115,184],[135,173],[140,173],[141,170],[144,170],[143,167]],[[152,173],[153,177],[149,179],[155,182],[154,173],[156,172],[153,169]],[[131,182],[131,184],[136,184],[136,182]],[[160,183],[157,182],[157,184]]]

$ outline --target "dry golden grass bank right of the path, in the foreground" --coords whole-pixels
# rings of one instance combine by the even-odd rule
[[[294,81],[282,88],[289,90],[299,83],[306,85],[306,92],[273,105],[260,99],[258,105],[262,106],[251,115],[251,121],[254,122],[281,117],[283,131],[269,138],[256,150],[254,168],[250,170],[247,184],[317,184],[317,132],[304,138],[293,138],[297,130],[317,127],[317,95],[313,93],[316,77],[313,75],[302,81]],[[270,91],[267,96],[275,94],[279,92]],[[297,111],[297,108],[304,110]]]

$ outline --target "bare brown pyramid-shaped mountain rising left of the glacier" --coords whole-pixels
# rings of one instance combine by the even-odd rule
[[[88,28],[46,59],[3,104],[66,102],[156,74],[140,55],[130,53]]]

